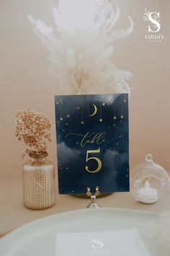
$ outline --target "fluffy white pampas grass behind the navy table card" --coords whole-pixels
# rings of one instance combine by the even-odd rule
[[[28,20],[48,50],[50,71],[57,85],[69,93],[130,93],[128,71],[112,62],[113,43],[130,35],[133,21],[125,30],[114,30],[120,9],[112,0],[59,0],[53,8],[55,27]]]

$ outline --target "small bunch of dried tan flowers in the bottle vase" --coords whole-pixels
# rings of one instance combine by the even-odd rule
[[[32,109],[17,111],[16,124],[17,140],[27,145],[24,154],[41,155],[47,152],[45,140],[52,141],[50,119],[47,116],[35,113]]]

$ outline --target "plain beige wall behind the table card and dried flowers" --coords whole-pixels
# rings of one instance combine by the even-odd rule
[[[117,0],[121,9],[117,28],[128,26],[130,14],[135,27],[125,40],[115,42],[114,63],[133,73],[130,86],[130,166],[135,166],[147,153],[170,171],[169,131],[169,0]],[[24,145],[14,137],[14,115],[18,109],[33,108],[50,117],[53,143],[49,158],[55,158],[55,120],[53,96],[71,93],[67,85],[58,88],[48,72],[48,55],[32,33],[27,14],[53,25],[54,0],[0,1],[0,178],[21,179]],[[161,43],[147,43],[143,22],[145,7],[161,12]]]

